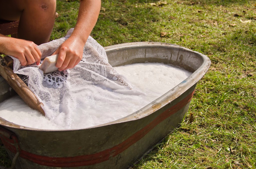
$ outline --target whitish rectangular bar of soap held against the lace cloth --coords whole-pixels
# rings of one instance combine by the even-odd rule
[[[56,67],[57,59],[58,59],[58,54],[47,56],[44,59],[43,63],[40,66],[40,69],[44,71],[44,74],[51,73],[58,70],[58,67]]]

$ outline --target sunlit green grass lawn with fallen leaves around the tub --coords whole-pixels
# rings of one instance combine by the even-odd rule
[[[57,1],[51,39],[75,26],[78,6],[79,1]],[[174,43],[212,62],[185,121],[133,168],[255,168],[256,2],[103,0],[102,7],[91,33],[102,46]],[[161,37],[161,32],[167,34]],[[195,117],[191,123],[190,116]],[[1,164],[8,166],[1,153]]]

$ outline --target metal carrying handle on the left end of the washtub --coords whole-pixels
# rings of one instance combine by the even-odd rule
[[[15,147],[16,154],[12,161],[12,166],[9,169],[15,168],[16,160],[20,154],[19,142],[17,136],[10,130],[7,130],[0,126],[0,136],[3,142],[8,142],[11,146]],[[14,150],[14,151],[15,151]],[[6,167],[0,166],[0,169],[6,169]]]

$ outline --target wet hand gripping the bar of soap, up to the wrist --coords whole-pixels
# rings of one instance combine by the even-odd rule
[[[84,43],[77,38],[69,37],[52,54],[59,54],[56,67],[59,71],[75,67],[83,57]]]

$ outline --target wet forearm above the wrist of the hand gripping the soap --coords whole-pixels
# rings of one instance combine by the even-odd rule
[[[71,38],[86,43],[95,26],[101,7],[101,0],[80,0],[77,23]]]

